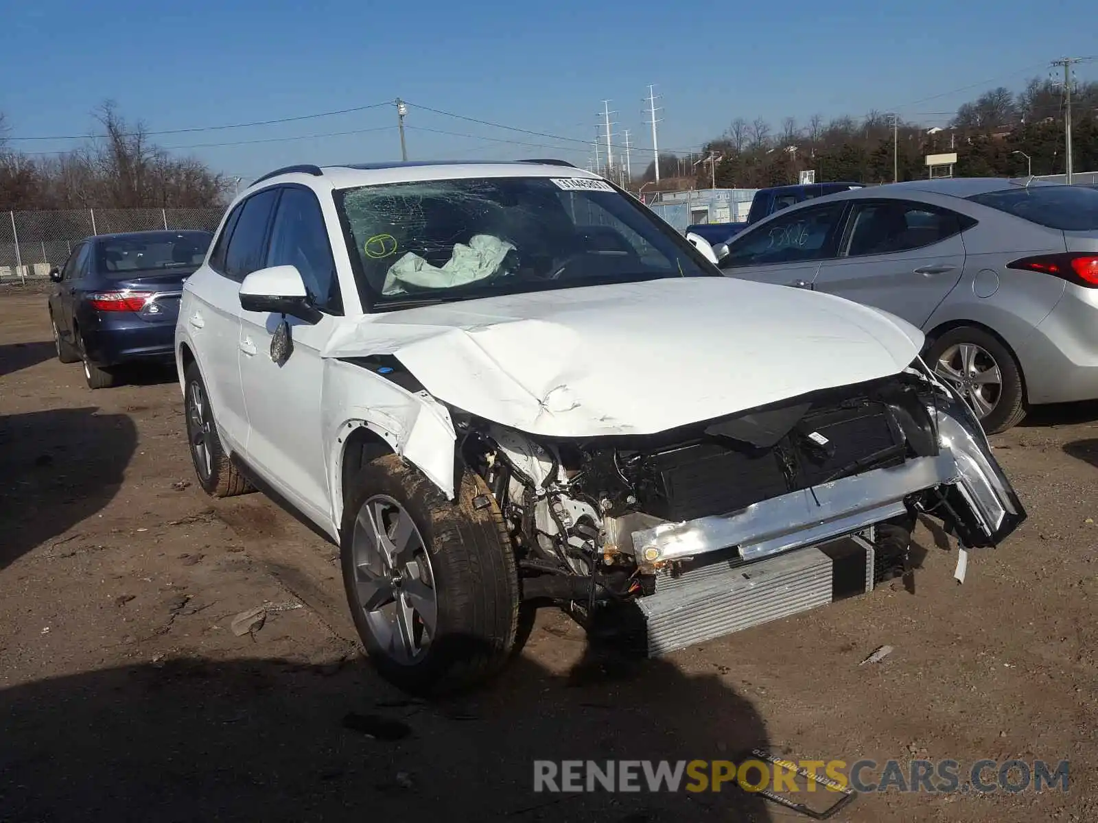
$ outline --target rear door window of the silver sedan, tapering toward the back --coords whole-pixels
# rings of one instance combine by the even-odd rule
[[[941,243],[962,229],[945,208],[899,200],[859,203],[850,218],[844,257],[890,255]]]

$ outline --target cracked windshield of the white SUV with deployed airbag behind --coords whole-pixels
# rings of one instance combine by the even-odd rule
[[[339,200],[360,285],[378,302],[712,273],[601,180],[434,180],[363,187]]]

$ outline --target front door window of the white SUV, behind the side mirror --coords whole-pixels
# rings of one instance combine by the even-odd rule
[[[316,195],[306,189],[282,191],[271,228],[267,266],[296,266],[313,305],[343,314],[343,297],[328,230]]]

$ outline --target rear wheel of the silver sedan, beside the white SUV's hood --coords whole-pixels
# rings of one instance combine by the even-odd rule
[[[1013,353],[995,336],[975,326],[950,329],[931,345],[927,364],[955,388],[976,413],[988,435],[1013,428],[1026,417],[1022,372]],[[965,365],[968,368],[965,368]],[[993,381],[997,377],[998,382]],[[981,380],[988,382],[982,383]],[[994,388],[994,394],[991,390]],[[976,394],[979,393],[978,397]],[[990,409],[977,408],[979,398]]]

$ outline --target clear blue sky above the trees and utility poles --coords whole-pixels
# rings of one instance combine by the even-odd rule
[[[896,109],[928,126],[942,124],[985,88],[1020,88],[1028,77],[1047,75],[1051,59],[1098,55],[1093,0],[682,7],[651,0],[192,0],[155,7],[4,0],[0,111],[9,137],[88,134],[91,110],[108,98],[127,119],[160,131],[401,97],[410,104],[411,159],[557,156],[586,165],[602,101],[609,99],[614,143],[630,131],[639,149],[636,171],[651,159],[642,113],[649,83],[661,95],[661,149],[681,150],[719,134],[736,116],[762,116],[776,129],[787,115],[804,123],[813,113]],[[1078,67],[1077,77],[1098,77],[1098,63]],[[399,158],[395,116],[383,105],[156,139],[247,180],[291,162]],[[356,134],[333,134],[346,132]],[[310,135],[326,136],[282,139]],[[224,143],[238,145],[205,145]],[[13,145],[53,151],[75,142]]]

